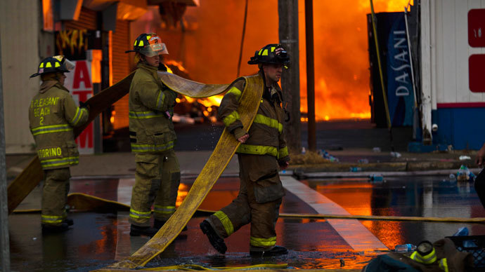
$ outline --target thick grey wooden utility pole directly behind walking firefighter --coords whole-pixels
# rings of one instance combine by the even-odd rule
[[[281,45],[290,55],[290,69],[283,69],[281,88],[283,108],[290,115],[285,121],[285,134],[290,154],[302,150],[302,128],[299,99],[299,42],[298,42],[298,0],[278,0],[279,36]]]

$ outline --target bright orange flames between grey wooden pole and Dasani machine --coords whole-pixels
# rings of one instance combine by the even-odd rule
[[[374,0],[373,4],[376,13],[402,12],[408,0]],[[302,1],[299,10],[304,11]],[[316,16],[319,13],[324,16]],[[367,13],[370,0],[313,1],[317,121],[370,118]],[[304,27],[302,15],[299,18],[302,112],[307,110]]]

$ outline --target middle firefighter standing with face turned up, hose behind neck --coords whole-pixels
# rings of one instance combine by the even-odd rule
[[[162,54],[168,54],[157,34],[141,34],[134,50],[128,52],[136,53],[137,63],[129,89],[129,135],[136,162],[129,212],[130,235],[153,236],[175,212],[179,190],[180,168],[174,152],[176,135],[172,123],[177,94],[157,75]]]

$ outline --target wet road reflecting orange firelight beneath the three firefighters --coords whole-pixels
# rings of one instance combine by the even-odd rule
[[[195,178],[185,177],[179,189],[181,203]],[[477,194],[470,182],[452,182],[448,177],[385,178],[370,183],[367,179],[307,179],[297,182],[285,177],[286,196],[282,213],[324,213],[317,204],[327,205],[329,213],[344,209],[350,215],[393,215],[420,217],[485,217]],[[288,186],[293,180],[303,190]],[[134,179],[73,179],[71,193],[129,203]],[[304,185],[304,186],[302,186]],[[201,209],[219,210],[237,196],[238,178],[223,177],[200,205]],[[36,190],[39,191],[40,187]],[[35,193],[35,192],[34,192]],[[309,198],[302,196],[312,196]],[[318,198],[321,196],[322,198]],[[27,197],[19,209],[32,208],[36,200]],[[13,271],[90,271],[129,256],[148,238],[130,237],[128,212],[72,212],[75,225],[66,233],[42,235],[39,214],[13,214],[9,217],[11,268]],[[276,224],[278,245],[289,254],[273,258],[249,257],[250,228],[245,226],[226,239],[228,252],[218,254],[209,244],[198,224],[205,217],[194,217],[188,231],[181,233],[172,245],[147,266],[200,264],[203,266],[248,266],[252,264],[288,264],[294,268],[361,268],[367,261],[385,251],[358,247],[359,237],[370,235],[385,247],[421,240],[438,240],[451,236],[460,226],[467,226],[470,235],[485,234],[484,224],[359,221],[363,228],[346,233],[333,219],[280,218]],[[342,219],[341,221],[345,221]],[[347,220],[349,221],[349,220]],[[342,229],[343,228],[343,229]],[[364,244],[368,241],[361,241]],[[344,266],[341,267],[341,260]]]

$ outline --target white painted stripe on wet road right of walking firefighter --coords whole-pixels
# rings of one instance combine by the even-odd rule
[[[347,210],[297,179],[282,176],[285,189],[322,215],[350,215]],[[354,250],[389,250],[357,219],[327,219],[327,222]]]

